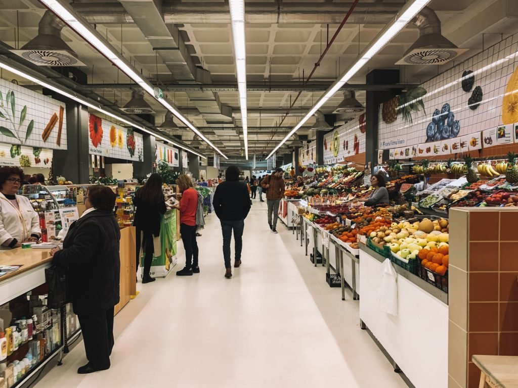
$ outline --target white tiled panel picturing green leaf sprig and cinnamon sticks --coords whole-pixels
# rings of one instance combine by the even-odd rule
[[[65,104],[0,79],[0,142],[66,150]]]

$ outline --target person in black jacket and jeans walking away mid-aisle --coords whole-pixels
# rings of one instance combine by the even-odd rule
[[[243,248],[244,219],[250,212],[251,201],[248,188],[239,182],[239,168],[230,166],[226,169],[225,182],[218,185],[212,200],[214,211],[221,222],[223,233],[223,259],[225,261],[225,277],[232,277],[231,249],[232,231],[234,231],[235,259],[234,267],[241,265]]]

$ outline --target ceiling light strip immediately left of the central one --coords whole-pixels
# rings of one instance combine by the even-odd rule
[[[59,0],[40,0],[40,2],[52,12],[54,12],[57,17],[63,20],[77,34],[82,36],[83,39],[90,43],[91,46],[93,46],[97,51],[108,58],[109,61],[111,61],[122,72],[124,72],[126,76],[135,81],[151,97],[159,101],[168,111],[178,117],[178,119],[183,124],[188,126],[194,133],[196,133],[196,135],[198,135],[208,145],[214,148],[215,151],[217,151],[225,159],[228,159],[226,155],[223,154],[218,147],[212,144],[212,142],[207,139],[203,133],[200,132],[198,128],[196,128],[183,114],[181,114],[178,109],[173,107],[165,99],[156,97],[153,85],[148,80],[144,79],[140,74],[138,74],[136,69],[131,64],[127,63],[126,59],[122,55],[118,54],[117,51],[114,50],[113,47],[102,36],[100,36],[100,34],[97,33],[97,31],[95,31],[95,29],[92,28],[90,24],[78,16],[68,4],[62,4]]]

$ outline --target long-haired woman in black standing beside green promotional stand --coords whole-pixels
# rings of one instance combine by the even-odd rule
[[[155,281],[151,277],[151,262],[153,261],[154,239],[160,236],[160,221],[167,208],[162,193],[162,177],[151,174],[146,184],[137,190],[133,203],[137,207],[133,226],[137,233],[137,268],[140,261],[140,246],[144,251],[144,267],[142,283]]]

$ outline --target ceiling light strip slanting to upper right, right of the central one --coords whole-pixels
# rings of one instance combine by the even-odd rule
[[[333,97],[342,86],[348,82],[354,74],[358,72],[370,59],[375,56],[392,38],[394,38],[400,31],[412,20],[416,14],[419,13],[430,0],[413,0],[406,3],[401,11],[394,17],[394,20],[387,24],[381,32],[373,39],[370,44],[358,56],[358,59],[324,92],[311,110],[300,120],[297,125],[286,135],[286,137],[274,148],[274,150],[267,156],[269,158],[273,155],[290,137],[309,119],[312,117],[320,107],[322,107],[329,98]]]

